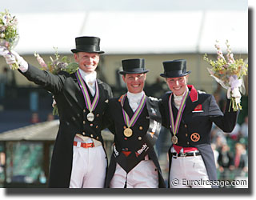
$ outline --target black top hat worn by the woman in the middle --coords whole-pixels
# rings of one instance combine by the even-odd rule
[[[122,60],[122,70],[119,74],[144,74],[149,71],[145,69],[143,58]]]

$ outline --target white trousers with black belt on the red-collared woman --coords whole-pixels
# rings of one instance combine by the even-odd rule
[[[210,188],[201,155],[172,158],[170,188]]]

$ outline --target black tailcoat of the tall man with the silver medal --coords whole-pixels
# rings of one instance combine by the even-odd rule
[[[23,73],[22,73],[23,74]],[[82,134],[102,142],[102,115],[107,106],[107,99],[112,97],[110,86],[97,79],[99,100],[94,110],[94,121],[89,122],[86,115],[86,103],[75,74],[61,72],[58,75],[29,65],[23,74],[54,94],[58,105],[60,125],[54,143],[50,165],[50,187],[69,187],[73,160],[73,142],[75,134]],[[88,90],[88,88],[87,88]],[[90,93],[90,90],[88,90]],[[90,98],[91,94],[90,94]]]

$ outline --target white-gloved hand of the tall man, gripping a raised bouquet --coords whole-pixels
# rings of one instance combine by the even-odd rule
[[[11,67],[15,62],[18,63],[18,68],[22,72],[26,72],[28,69],[28,63],[14,50],[7,50],[5,47],[0,48],[0,54],[6,58],[6,63]]]

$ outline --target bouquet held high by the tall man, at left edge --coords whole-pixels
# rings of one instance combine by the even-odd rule
[[[0,46],[12,50],[18,44],[18,20],[12,17],[8,10],[0,12]],[[12,70],[18,69],[18,63],[12,65]]]

